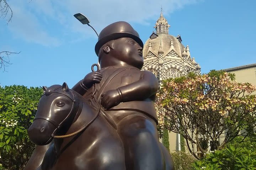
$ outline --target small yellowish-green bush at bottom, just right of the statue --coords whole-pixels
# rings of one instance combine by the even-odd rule
[[[174,161],[175,170],[190,170],[192,163],[196,159],[190,153],[183,151],[171,153],[171,156]]]

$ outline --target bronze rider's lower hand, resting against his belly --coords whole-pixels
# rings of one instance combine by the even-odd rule
[[[121,96],[118,90],[109,90],[101,95],[101,105],[105,109],[110,109],[111,107],[117,106],[121,103]]]

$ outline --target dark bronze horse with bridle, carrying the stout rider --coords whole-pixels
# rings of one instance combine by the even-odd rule
[[[28,129],[38,146],[25,170],[126,170],[117,130],[101,115],[93,98],[86,100],[66,83],[43,89]],[[170,154],[160,145],[164,170],[171,170]]]

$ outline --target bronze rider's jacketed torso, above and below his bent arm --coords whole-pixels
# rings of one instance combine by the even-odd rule
[[[99,84],[96,84],[97,92],[95,94],[95,98],[99,103],[101,102],[101,94],[108,90],[134,83],[140,80],[143,74],[143,71],[138,68],[126,67],[106,67],[101,69],[100,72],[103,74],[103,78]],[[85,93],[84,97],[91,97],[91,95],[92,87]],[[153,118],[157,123],[154,101],[151,98],[145,98],[142,101],[122,102],[105,112],[110,112],[109,114],[111,114],[113,111],[122,111],[122,113],[140,112]]]

